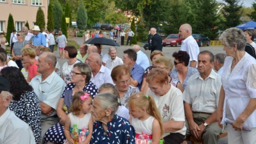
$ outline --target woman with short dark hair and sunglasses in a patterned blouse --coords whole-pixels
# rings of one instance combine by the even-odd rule
[[[183,92],[190,76],[198,71],[196,68],[188,66],[190,56],[186,51],[178,51],[178,53],[174,52],[173,57],[175,69],[171,72],[171,82],[175,85],[181,84],[182,87],[179,89]]]

